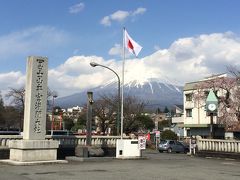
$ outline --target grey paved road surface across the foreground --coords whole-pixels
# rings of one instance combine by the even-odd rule
[[[69,162],[35,166],[0,164],[0,180],[239,180],[240,162],[145,151],[147,159]]]

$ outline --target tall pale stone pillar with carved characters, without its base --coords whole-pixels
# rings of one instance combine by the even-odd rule
[[[23,139],[45,139],[47,64],[48,59],[45,57],[28,57]]]

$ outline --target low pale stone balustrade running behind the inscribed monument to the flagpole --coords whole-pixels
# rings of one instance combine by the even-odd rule
[[[128,139],[129,137],[124,137]],[[22,139],[20,135],[0,135],[0,147],[8,147],[10,140]],[[86,145],[86,136],[46,136],[46,139],[58,140],[62,146]],[[116,146],[117,139],[120,136],[92,136],[91,144],[93,146]]]

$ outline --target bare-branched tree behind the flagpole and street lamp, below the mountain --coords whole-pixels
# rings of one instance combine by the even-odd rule
[[[93,114],[97,117],[98,121],[96,126],[101,129],[102,133],[105,133],[107,128],[111,128],[112,132],[116,132],[116,120],[117,120],[117,96],[101,96],[93,105]],[[124,98],[123,116],[125,133],[138,131],[141,127],[136,117],[144,112],[145,104],[136,97],[126,96]]]

